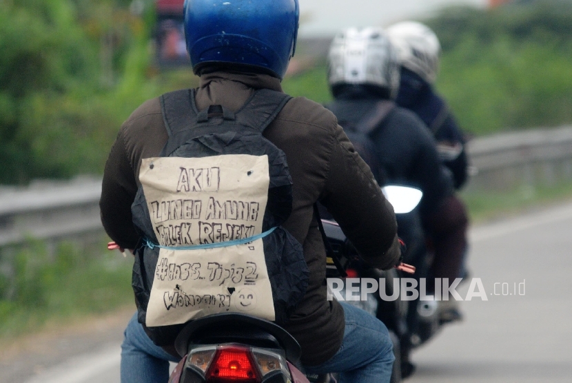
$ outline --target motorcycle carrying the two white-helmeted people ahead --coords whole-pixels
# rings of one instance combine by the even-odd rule
[[[422,192],[415,188],[400,187],[390,185],[382,188],[389,202],[394,205],[394,211],[398,221],[398,235],[405,240],[407,250],[404,254],[404,261],[411,263],[415,267],[413,276],[419,286],[420,278],[428,276],[430,251],[425,243],[425,233],[422,229],[420,218],[416,213],[416,207],[422,197]],[[347,241],[345,235],[336,224],[330,220],[323,220],[325,237],[330,242],[334,256],[337,258],[329,266],[329,277],[339,277],[346,274],[354,278],[374,278],[385,281],[380,283],[380,289],[385,289],[385,297],[380,294],[368,294],[367,300],[348,301],[361,309],[371,313],[381,320],[389,330],[389,335],[394,343],[394,371],[391,382],[400,382],[403,378],[413,373],[414,366],[409,361],[409,355],[413,349],[425,344],[442,329],[445,322],[439,320],[439,302],[437,300],[423,300],[418,298],[412,300],[403,295],[399,281],[402,278],[410,277],[411,269],[398,267],[388,271],[380,271],[367,267],[360,261],[355,249]],[[342,265],[345,273],[338,270]],[[345,291],[342,291],[345,293]],[[396,297],[394,299],[394,297]]]

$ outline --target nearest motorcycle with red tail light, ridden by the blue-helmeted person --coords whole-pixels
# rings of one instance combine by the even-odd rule
[[[411,203],[411,197],[403,198],[407,190],[391,187],[383,190],[390,202],[394,200],[396,211],[412,209],[402,207],[404,203]],[[327,244],[339,245],[339,258],[329,256],[327,259],[327,275],[344,272],[344,267],[349,265],[346,262],[349,258],[345,259],[349,253],[346,248],[351,244],[335,222],[320,222],[327,227],[323,228],[328,237]],[[110,242],[108,249],[119,247]],[[345,265],[340,262],[345,262]],[[399,268],[411,272],[409,265],[400,265]],[[292,335],[274,322],[242,313],[212,314],[188,322],[178,333],[175,348],[179,355],[184,356],[172,371],[169,383],[336,382],[332,374],[305,375],[300,364],[300,346]]]

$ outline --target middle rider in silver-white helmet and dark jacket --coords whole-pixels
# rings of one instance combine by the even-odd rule
[[[334,101],[327,107],[347,130],[368,131],[387,183],[415,186],[423,191],[418,215],[435,242],[433,276],[453,282],[466,247],[467,217],[455,209],[450,172],[442,165],[427,126],[416,114],[392,101],[398,92],[400,72],[389,37],[382,28],[343,30],[331,43],[328,65]],[[382,110],[382,119],[376,119]],[[367,121],[376,121],[377,125],[365,127]],[[402,226],[399,222],[400,229],[407,226],[409,223]],[[419,264],[422,260],[406,258],[405,262]],[[429,291],[433,289],[431,280],[427,281]],[[402,347],[407,354],[408,345]],[[407,375],[412,366],[407,360],[402,360],[402,364]]]

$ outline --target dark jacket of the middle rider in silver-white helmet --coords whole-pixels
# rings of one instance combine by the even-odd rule
[[[367,88],[348,87],[327,107],[340,125],[358,125],[379,101]],[[409,110],[394,107],[371,134],[387,183],[418,187],[423,191],[420,214],[435,213],[453,193],[451,176],[442,165],[436,143],[425,124]]]

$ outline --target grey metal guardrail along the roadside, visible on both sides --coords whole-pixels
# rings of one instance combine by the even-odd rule
[[[497,134],[468,144],[476,174],[467,189],[506,189],[572,179],[572,127]],[[0,188],[0,246],[25,238],[61,238],[101,233],[101,180],[34,183]]]

